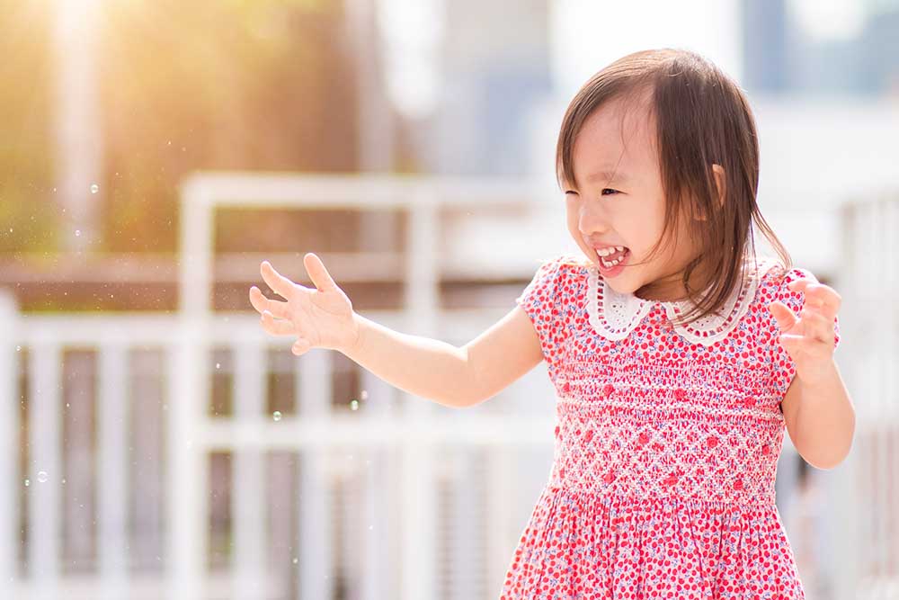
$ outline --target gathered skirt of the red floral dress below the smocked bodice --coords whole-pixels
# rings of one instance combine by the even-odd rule
[[[501,600],[802,600],[775,506],[547,488]]]

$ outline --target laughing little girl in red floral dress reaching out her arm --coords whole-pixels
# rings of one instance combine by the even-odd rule
[[[689,51],[620,58],[568,106],[556,172],[583,255],[541,264],[462,348],[360,317],[311,253],[315,290],[266,262],[287,301],[250,300],[294,354],[339,350],[448,406],[547,362],[554,464],[501,599],[804,598],[775,505],[784,427],[832,469],[855,413],[833,360],[840,295],[791,267],[756,204],[745,96]],[[756,255],[753,220],[781,261]]]

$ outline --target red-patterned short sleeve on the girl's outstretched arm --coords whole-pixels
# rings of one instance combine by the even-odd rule
[[[534,324],[549,367],[556,366],[562,337],[562,263],[563,258],[558,256],[540,264],[533,279],[515,299]]]

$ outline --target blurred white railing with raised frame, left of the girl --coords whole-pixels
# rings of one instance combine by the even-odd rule
[[[266,353],[272,348],[289,353],[289,340],[265,335],[254,313],[211,311],[210,232],[216,207],[221,204],[260,208],[292,205],[304,210],[316,206],[352,210],[392,206],[407,210],[410,227],[405,298],[409,309],[367,315],[387,327],[461,345],[501,317],[505,309],[437,309],[435,261],[441,206],[461,204],[472,210],[503,206],[521,210],[523,206],[526,210],[525,187],[381,177],[195,177],[184,188],[182,303],[178,313],[20,315],[5,299],[0,310],[11,332],[7,339],[19,349],[10,346],[0,354],[0,374],[10,375],[0,389],[5,400],[2,406],[7,407],[3,422],[10,433],[4,436],[10,452],[0,457],[0,472],[8,475],[7,480],[29,480],[24,505],[18,502],[18,489],[0,496],[0,533],[6,533],[7,539],[17,537],[19,518],[27,516],[24,546],[0,545],[0,569],[13,596],[57,597],[65,590],[67,597],[90,598],[330,597],[335,589],[335,582],[327,578],[335,567],[328,545],[333,537],[332,520],[356,515],[353,518],[358,523],[360,515],[370,521],[392,515],[383,527],[344,532],[342,547],[334,549],[344,561],[348,552],[359,557],[358,562],[343,565],[352,575],[352,596],[434,597],[439,580],[434,532],[441,504],[436,483],[453,473],[457,452],[474,452],[477,448],[491,449],[485,463],[485,485],[491,488],[491,500],[483,509],[488,526],[477,532],[486,544],[487,561],[458,567],[457,579],[460,589],[494,596],[523,527],[520,519],[512,520],[509,511],[509,506],[515,505],[508,473],[512,456],[518,452],[516,448],[525,447],[541,448],[547,455],[551,452],[554,403],[545,401],[552,397],[552,390],[543,370],[529,373],[489,404],[466,411],[405,395],[363,370],[361,387],[369,390],[369,400],[362,403],[364,409],[341,415],[335,414],[330,405],[334,376],[331,359],[336,353],[315,350],[294,360],[297,416],[274,421],[263,407]],[[75,385],[63,372],[64,354],[71,348],[96,355],[95,389],[87,390],[90,399],[80,401],[96,403],[97,461],[96,472],[87,467],[73,470],[70,462],[67,472],[72,476],[66,481],[64,458],[71,461],[71,456],[67,453],[64,457],[63,452],[72,449],[63,446],[63,434],[73,417],[66,416],[60,407]],[[162,579],[152,572],[136,570],[129,561],[133,554],[129,547],[133,542],[129,495],[136,494],[136,486],[129,479],[134,474],[129,472],[127,457],[136,432],[129,431],[128,423],[137,417],[131,411],[138,407],[129,401],[136,390],[130,389],[127,356],[146,348],[158,349],[164,357],[160,402],[166,419],[161,448],[165,455],[157,457],[165,461],[165,544],[157,549],[161,550],[158,560]],[[210,381],[216,371],[209,357],[215,348],[228,348],[233,355],[235,404],[231,418],[207,414]],[[28,415],[22,422],[16,409],[20,406],[16,370],[25,354],[24,406]],[[83,382],[77,385],[84,387]],[[539,402],[542,406],[528,410],[529,399],[534,403],[535,398],[544,400]],[[515,415],[506,414],[513,399]],[[90,408],[79,404],[72,410],[76,408],[81,411],[79,416],[91,415]],[[23,477],[16,466],[20,457],[14,434],[17,424],[28,431],[28,467]],[[76,439],[79,444],[91,443],[90,435],[85,437],[84,432],[76,434]],[[71,445],[71,441],[66,443]],[[506,448],[506,453],[497,452],[499,448]],[[345,449],[356,449],[361,451],[360,456],[367,457],[371,468],[361,479],[352,479],[352,470],[334,465],[334,452]],[[272,574],[266,555],[267,520],[278,517],[271,514],[270,499],[264,496],[263,456],[271,451],[292,452],[299,459],[294,476],[303,499],[289,500],[297,505],[293,509],[298,511],[298,531],[281,536],[305,544],[290,550],[292,575],[283,569]],[[215,452],[233,455],[233,480],[240,483],[231,490],[233,553],[224,572],[213,572],[208,565],[209,457]],[[328,495],[334,473],[342,470],[347,485],[352,482],[356,486],[355,506],[361,507],[353,512],[347,505],[347,515],[343,516],[332,514]],[[468,479],[470,474],[457,471],[456,477]],[[396,494],[389,493],[393,484]],[[75,501],[69,491],[72,488],[86,491],[87,496],[93,492],[96,497],[95,564],[79,569],[64,562],[71,549],[63,544],[71,545],[73,533],[79,535],[73,527],[90,528],[93,506],[89,502],[81,506],[84,498]],[[534,499],[536,496],[524,503]],[[475,502],[469,499],[460,506],[474,506]],[[284,519],[279,523],[280,527],[290,526]],[[93,536],[84,532],[80,535],[80,545],[89,548]],[[18,555],[22,551],[27,553],[22,556],[20,573]],[[465,554],[459,553],[453,560],[464,558]],[[399,579],[392,580],[392,573],[398,573]],[[484,577],[490,579],[480,579]]]

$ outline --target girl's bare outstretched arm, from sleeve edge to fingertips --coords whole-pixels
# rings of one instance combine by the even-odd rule
[[[318,256],[309,253],[303,262],[315,289],[291,282],[267,262],[261,266],[263,279],[286,301],[268,300],[255,286],[250,289],[263,328],[297,337],[293,354],[314,347],[337,350],[394,387],[449,407],[494,396],[543,358],[530,318],[518,307],[458,348],[362,317]]]

